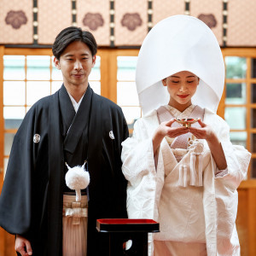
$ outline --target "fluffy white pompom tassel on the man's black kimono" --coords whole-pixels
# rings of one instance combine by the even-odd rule
[[[90,183],[90,175],[83,166],[74,166],[71,168],[66,164],[68,171],[65,176],[66,184],[69,189],[76,191],[76,201],[81,201],[81,189],[86,189]]]

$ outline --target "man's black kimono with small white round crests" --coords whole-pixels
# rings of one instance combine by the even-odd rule
[[[63,85],[39,100],[15,135],[0,196],[0,225],[31,241],[35,256],[62,255],[65,161],[73,167],[87,159],[87,255],[108,255],[108,236],[96,231],[96,219],[127,218],[120,160],[126,137],[121,108],[96,95],[90,85],[77,114]]]

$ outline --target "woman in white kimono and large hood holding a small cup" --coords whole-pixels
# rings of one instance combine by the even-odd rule
[[[186,15],[161,20],[140,49],[136,82],[144,115],[122,160],[129,218],[160,222],[148,255],[240,255],[236,189],[251,154],[216,114],[224,61],[211,29]],[[188,118],[199,120],[177,122]]]

